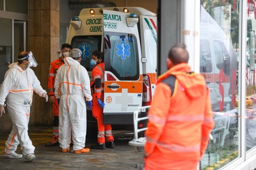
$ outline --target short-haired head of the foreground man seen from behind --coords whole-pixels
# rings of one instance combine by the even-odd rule
[[[186,50],[185,44],[175,44],[169,50],[168,58],[173,62],[174,65],[180,63],[188,63],[188,51]]]

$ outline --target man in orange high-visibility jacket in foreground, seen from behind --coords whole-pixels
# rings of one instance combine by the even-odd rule
[[[214,127],[203,75],[191,72],[184,44],[169,51],[145,131],[145,169],[197,169]]]

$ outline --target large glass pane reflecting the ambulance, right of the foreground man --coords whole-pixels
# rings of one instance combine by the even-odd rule
[[[238,158],[240,142],[238,142],[239,120],[236,117],[238,116],[236,52],[239,51],[237,3],[237,1],[222,0],[201,1],[200,73],[205,76],[210,88],[215,123],[211,133],[213,138],[201,159],[201,169],[210,167],[221,169]]]

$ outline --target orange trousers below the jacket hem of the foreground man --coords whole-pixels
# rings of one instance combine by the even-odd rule
[[[197,160],[175,160],[163,158],[154,152],[145,158],[145,170],[197,170],[198,165],[199,161]]]

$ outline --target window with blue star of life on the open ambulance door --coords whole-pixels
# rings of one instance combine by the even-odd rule
[[[104,33],[105,70],[119,80],[139,80],[137,39],[129,33]]]

